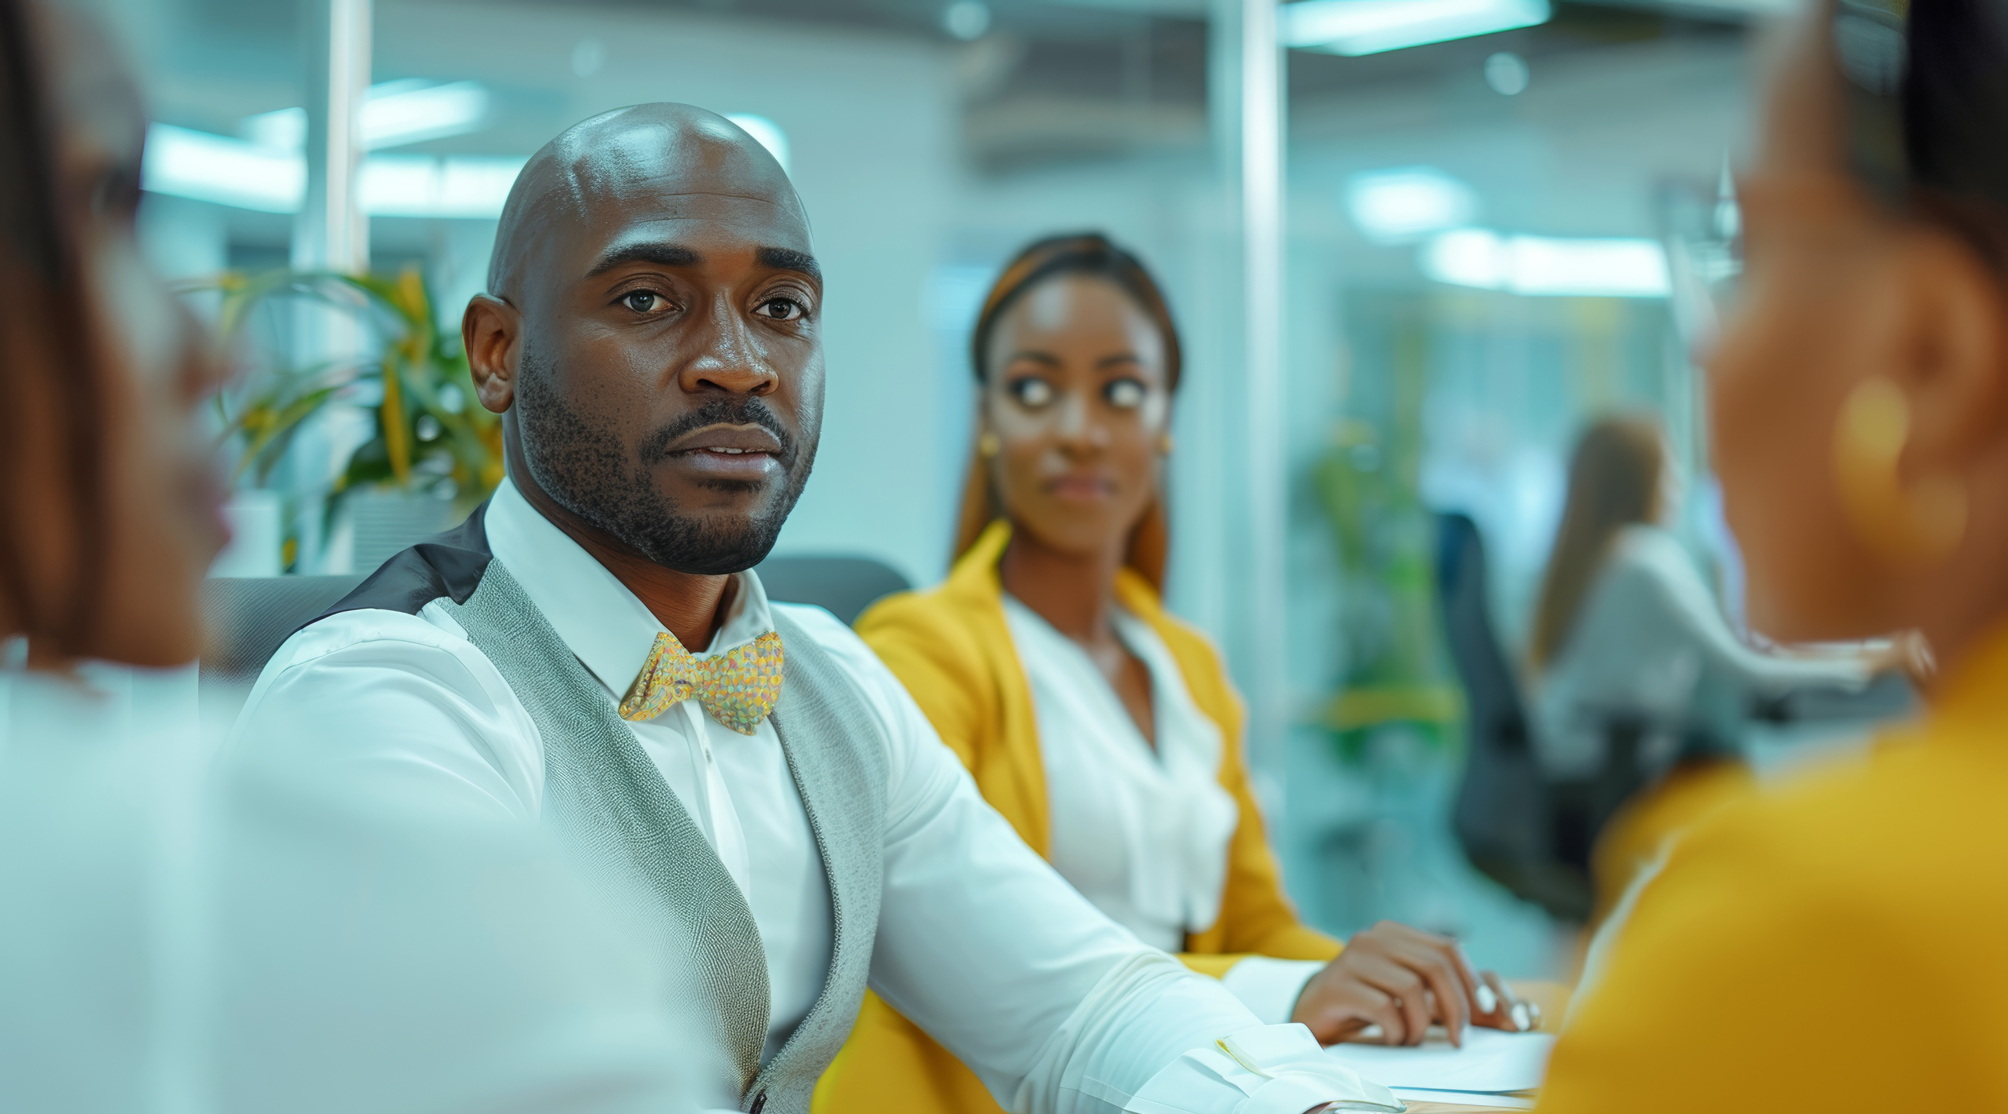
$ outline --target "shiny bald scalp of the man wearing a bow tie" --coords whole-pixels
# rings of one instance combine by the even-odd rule
[[[604,225],[608,209],[739,197],[775,207],[807,239],[809,221],[787,173],[739,124],[695,104],[631,104],[580,120],[530,157],[502,207],[488,291],[520,297],[524,267]]]

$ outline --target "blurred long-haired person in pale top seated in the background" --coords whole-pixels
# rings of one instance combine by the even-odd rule
[[[1677,514],[1679,482],[1659,422],[1614,415],[1584,430],[1568,464],[1528,664],[1542,775],[1645,787],[1596,843],[1598,911],[1669,833],[1751,785],[1741,739],[1753,701],[1859,690],[1884,664],[1745,644],[1667,528]],[[1637,739],[1635,755],[1612,753],[1618,733]],[[1637,769],[1608,769],[1622,761]]]

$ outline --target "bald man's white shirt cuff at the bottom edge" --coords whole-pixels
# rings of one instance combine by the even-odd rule
[[[1108,1096],[1116,1098],[1116,1096]],[[1327,1102],[1347,1110],[1402,1110],[1392,1090],[1359,1078],[1303,1026],[1261,1026],[1195,1048],[1122,1104],[1124,1114],[1303,1114]]]

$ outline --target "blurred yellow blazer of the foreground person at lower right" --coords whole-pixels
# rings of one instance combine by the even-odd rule
[[[1540,1110],[2008,1110],[2008,630],[1865,759],[1687,831]]]

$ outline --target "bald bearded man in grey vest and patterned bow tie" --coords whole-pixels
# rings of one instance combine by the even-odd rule
[[[239,737],[564,831],[689,976],[665,994],[717,1108],[807,1112],[867,986],[1012,1110],[1394,1108],[1102,917],[863,642],[767,600],[821,311],[801,201],[737,126],[643,104],[560,134],[462,323],[508,478],[281,646]]]

